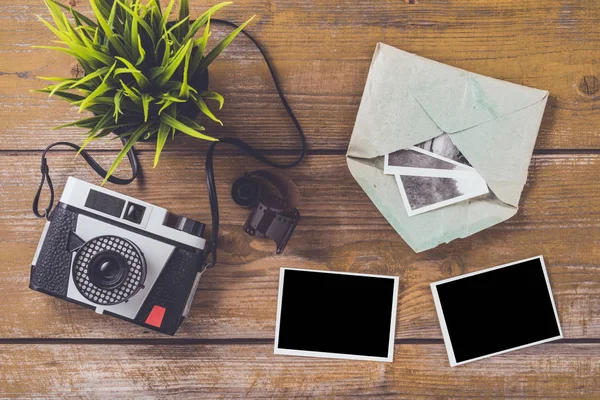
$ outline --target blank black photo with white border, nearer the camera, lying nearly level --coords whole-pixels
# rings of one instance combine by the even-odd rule
[[[282,268],[275,354],[393,361],[398,278]]]

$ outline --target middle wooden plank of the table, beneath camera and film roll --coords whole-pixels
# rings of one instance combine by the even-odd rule
[[[107,164],[112,155],[100,154]],[[152,155],[143,153],[142,165]],[[30,210],[39,156],[0,153],[0,338],[162,337],[27,288],[29,264],[43,222]],[[99,182],[69,153],[52,153],[60,193],[66,177]],[[219,267],[206,273],[180,338],[273,338],[280,267],[397,275],[398,338],[440,338],[429,283],[543,254],[565,337],[600,337],[600,155],[536,156],[522,208],[513,219],[466,239],[415,254],[387,224],[350,176],[343,156],[312,156],[289,176],[299,185],[303,220],[285,253],[241,230],[246,212],[229,198],[233,180],[257,164],[221,155],[216,176],[221,204]],[[167,153],[159,170],[118,189],[202,221],[209,220],[203,159]],[[10,249],[10,251],[9,251]]]

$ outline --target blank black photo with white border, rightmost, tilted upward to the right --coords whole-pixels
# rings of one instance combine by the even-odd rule
[[[450,365],[562,338],[542,256],[431,284]]]

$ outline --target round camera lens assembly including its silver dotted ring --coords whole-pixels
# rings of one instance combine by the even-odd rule
[[[94,273],[106,262],[109,265],[105,265],[105,271]],[[115,305],[127,301],[144,287],[146,260],[139,247],[130,240],[112,235],[98,236],[77,250],[71,275],[85,299],[103,306]]]

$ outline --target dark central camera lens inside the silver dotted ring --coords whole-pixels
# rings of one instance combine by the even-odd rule
[[[119,287],[127,277],[129,266],[125,258],[112,250],[105,250],[90,260],[88,276],[90,281],[102,289]]]

